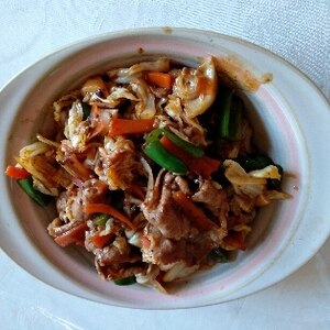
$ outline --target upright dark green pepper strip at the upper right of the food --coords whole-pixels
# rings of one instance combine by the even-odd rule
[[[220,101],[220,138],[229,141],[242,139],[242,100],[233,95],[232,89],[224,89]]]

